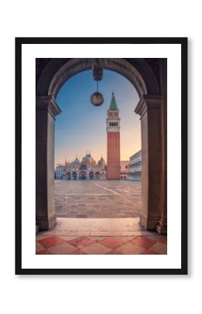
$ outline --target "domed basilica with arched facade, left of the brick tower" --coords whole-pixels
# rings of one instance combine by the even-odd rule
[[[71,163],[65,160],[65,165],[56,167],[56,179],[78,180],[78,179],[105,179],[105,161],[100,158],[95,162],[90,152],[80,161],[75,158]]]

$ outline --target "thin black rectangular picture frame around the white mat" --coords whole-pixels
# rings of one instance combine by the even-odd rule
[[[15,38],[15,274],[180,275],[187,274],[187,38]],[[22,269],[22,45],[26,44],[181,45],[181,268]]]

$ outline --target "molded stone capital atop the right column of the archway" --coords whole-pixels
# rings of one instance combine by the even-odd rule
[[[160,109],[161,103],[162,103],[161,95],[143,95],[141,96],[134,112],[136,114],[139,114],[139,116],[143,118],[144,114],[146,114],[148,109],[149,110]]]

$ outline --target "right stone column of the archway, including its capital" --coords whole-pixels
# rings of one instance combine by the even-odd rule
[[[162,197],[162,125],[161,96],[143,95],[135,109],[141,119],[142,145],[142,207],[140,224],[156,230]]]

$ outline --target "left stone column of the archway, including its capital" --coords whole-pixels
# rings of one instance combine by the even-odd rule
[[[40,230],[48,230],[56,223],[54,134],[59,113],[53,96],[36,97],[36,221]]]

